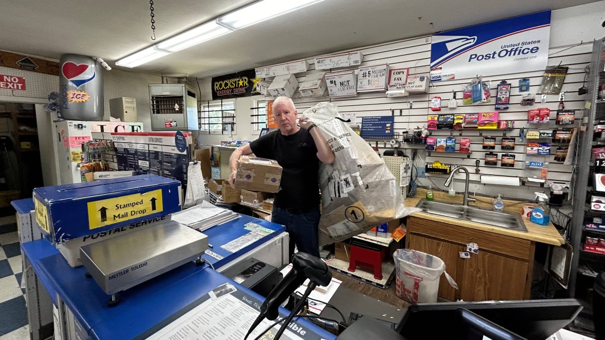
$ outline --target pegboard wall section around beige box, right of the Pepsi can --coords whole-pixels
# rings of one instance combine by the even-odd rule
[[[130,97],[137,100],[137,121],[143,123],[144,131],[151,131],[151,104],[149,84],[162,83],[161,76],[133,73],[122,70],[103,70],[103,90],[105,91],[105,114],[103,120],[110,119],[110,99]]]

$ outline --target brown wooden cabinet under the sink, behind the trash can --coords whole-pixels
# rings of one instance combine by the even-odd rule
[[[408,217],[405,247],[430,253],[445,263],[459,289],[440,278],[439,296],[451,301],[529,299],[535,243],[470,227]],[[460,258],[467,243],[479,253]]]

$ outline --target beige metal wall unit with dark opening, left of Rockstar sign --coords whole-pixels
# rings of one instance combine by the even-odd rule
[[[149,84],[153,131],[198,130],[197,94],[185,84]]]

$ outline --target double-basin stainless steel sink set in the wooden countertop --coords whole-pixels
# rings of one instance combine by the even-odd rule
[[[450,204],[442,201],[427,201],[422,198],[416,204],[416,208],[431,215],[437,215],[457,220],[487,224],[488,226],[501,227],[511,230],[527,232],[522,217],[517,212],[498,212],[490,209],[480,209],[458,204]]]

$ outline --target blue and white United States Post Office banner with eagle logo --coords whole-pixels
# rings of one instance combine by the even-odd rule
[[[434,34],[431,74],[465,79],[544,70],[550,31],[551,11],[542,11]]]

